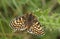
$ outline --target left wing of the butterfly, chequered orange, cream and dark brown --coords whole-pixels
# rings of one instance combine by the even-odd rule
[[[27,28],[25,26],[25,19],[22,17],[17,17],[10,22],[10,27],[14,30],[23,31]]]

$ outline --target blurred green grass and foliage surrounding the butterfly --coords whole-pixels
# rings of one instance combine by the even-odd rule
[[[38,17],[44,36],[12,32],[11,19],[27,12]],[[0,0],[0,39],[60,39],[60,0]]]

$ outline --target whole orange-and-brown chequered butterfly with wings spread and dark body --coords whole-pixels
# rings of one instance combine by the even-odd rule
[[[15,31],[26,31],[30,34],[43,35],[44,29],[32,13],[26,13],[23,16],[14,18],[10,22],[10,27]]]

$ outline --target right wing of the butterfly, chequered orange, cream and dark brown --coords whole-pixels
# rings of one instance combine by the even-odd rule
[[[35,35],[43,35],[44,30],[43,27],[39,24],[39,22],[34,23],[29,30],[27,31],[28,33],[35,34]]]

